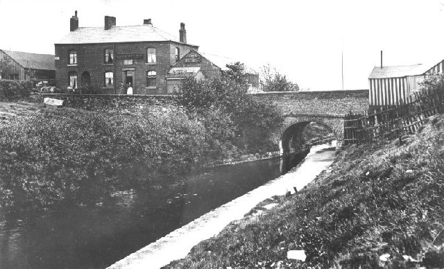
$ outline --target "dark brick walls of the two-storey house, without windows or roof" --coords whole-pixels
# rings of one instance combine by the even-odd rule
[[[114,65],[105,64],[105,49],[112,49],[112,44],[56,44],[56,80],[60,89],[67,89],[69,86],[69,72],[76,71],[78,84],[82,83],[81,75],[87,71],[91,75],[91,83],[99,85],[99,93],[114,94],[119,92],[119,85],[124,80],[123,71],[126,69],[134,70],[133,92],[135,94],[166,94],[168,69],[176,62],[176,47],[180,49],[180,55],[183,56],[195,46],[187,44],[178,44],[176,42],[133,42],[114,44]],[[156,63],[146,63],[146,49],[152,47],[156,49]],[[77,52],[77,64],[69,65],[69,50],[74,49]],[[117,59],[119,54],[142,54],[141,59],[133,59],[133,64],[124,66],[123,60]],[[105,71],[114,71],[114,87],[105,88]],[[157,73],[156,89],[146,87],[146,72],[154,70]]]

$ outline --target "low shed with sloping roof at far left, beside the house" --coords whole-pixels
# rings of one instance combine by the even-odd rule
[[[48,81],[56,78],[54,55],[0,49],[0,62],[4,58],[11,60],[12,70],[0,73],[0,79]]]

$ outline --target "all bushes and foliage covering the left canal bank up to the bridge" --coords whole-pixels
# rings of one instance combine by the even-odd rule
[[[0,207],[81,203],[82,196],[101,197],[147,186],[159,175],[185,173],[199,159],[278,150],[270,130],[282,117],[272,105],[253,100],[246,83],[192,80],[185,87],[176,98],[181,106],[163,112],[0,103]],[[205,107],[180,98],[202,89]]]

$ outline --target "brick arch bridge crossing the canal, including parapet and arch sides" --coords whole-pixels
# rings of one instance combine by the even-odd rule
[[[368,90],[323,92],[266,92],[255,98],[273,103],[284,115],[284,124],[275,130],[273,139],[288,153],[293,141],[298,140],[305,126],[311,122],[331,128],[338,146],[343,142],[344,116],[350,112],[368,110]]]

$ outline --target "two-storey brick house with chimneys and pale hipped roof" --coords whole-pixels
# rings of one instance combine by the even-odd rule
[[[56,80],[60,89],[95,85],[101,94],[120,94],[121,83],[134,94],[166,94],[169,69],[198,46],[187,44],[185,24],[179,39],[153,26],[151,19],[136,26],[116,26],[105,16],[103,27],[78,27],[76,14],[70,32],[54,44]]]

